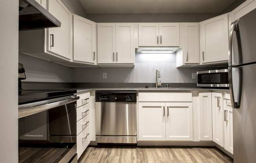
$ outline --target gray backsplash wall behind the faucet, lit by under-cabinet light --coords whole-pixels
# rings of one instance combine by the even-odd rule
[[[75,68],[73,82],[154,83],[155,70],[163,83],[191,83],[192,72],[203,68],[176,68],[176,54],[136,54],[134,68]],[[107,78],[103,79],[103,72]]]

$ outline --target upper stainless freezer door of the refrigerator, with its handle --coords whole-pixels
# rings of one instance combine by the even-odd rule
[[[229,65],[256,62],[256,9],[232,23]]]

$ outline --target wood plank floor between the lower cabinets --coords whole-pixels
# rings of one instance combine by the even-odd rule
[[[88,147],[79,163],[233,163],[213,147]]]

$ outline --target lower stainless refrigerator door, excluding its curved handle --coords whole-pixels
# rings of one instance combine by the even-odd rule
[[[233,109],[234,163],[255,163],[256,64],[241,66],[240,71],[241,103],[239,109]]]

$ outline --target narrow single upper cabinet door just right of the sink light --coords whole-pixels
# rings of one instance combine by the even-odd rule
[[[184,24],[184,63],[200,63],[199,56],[199,24],[186,23]]]

